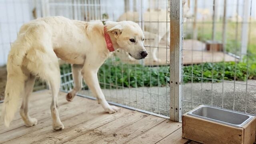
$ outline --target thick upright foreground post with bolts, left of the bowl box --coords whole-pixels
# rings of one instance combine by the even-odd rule
[[[182,0],[170,0],[170,120],[181,121]]]

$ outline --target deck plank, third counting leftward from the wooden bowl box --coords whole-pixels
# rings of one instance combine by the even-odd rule
[[[142,120],[134,122],[133,124],[131,124],[130,126],[127,126],[126,128],[113,132],[114,135],[110,134],[105,138],[102,138],[97,142],[94,142],[94,144],[108,144],[108,143],[122,144],[138,136],[139,134],[142,134],[148,129],[156,126],[157,124],[159,124],[160,122],[163,122],[164,120],[165,120],[164,118],[160,118],[152,115],[147,116],[146,118],[143,118]],[[74,142],[77,142],[77,141],[75,139],[70,140],[69,142],[67,142],[67,144],[74,143]]]

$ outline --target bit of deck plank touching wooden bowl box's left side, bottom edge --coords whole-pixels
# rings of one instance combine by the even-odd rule
[[[169,136],[160,140],[157,144],[185,144],[186,142],[188,142],[188,140],[182,138],[182,128],[179,128]]]

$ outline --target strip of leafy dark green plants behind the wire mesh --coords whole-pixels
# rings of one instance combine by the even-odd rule
[[[249,59],[249,58],[248,58]],[[256,60],[244,58],[243,62],[204,63],[184,66],[183,82],[220,82],[221,80],[256,79]],[[248,61],[247,61],[248,60]],[[248,64],[248,65],[247,65]],[[68,64],[61,66],[70,71]],[[140,64],[124,64],[118,58],[108,59],[99,69],[98,78],[102,88],[166,86],[170,80],[170,67],[149,67]],[[64,81],[64,78],[62,78]]]

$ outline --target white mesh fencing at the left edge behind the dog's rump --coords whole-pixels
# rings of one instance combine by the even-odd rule
[[[40,14],[40,3],[30,0],[0,0],[0,100],[6,85],[6,64],[11,44],[16,40],[20,27]],[[34,91],[47,88],[46,82],[36,79]]]

